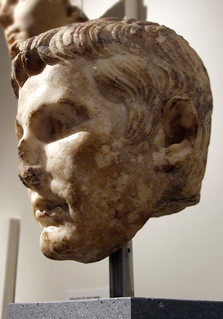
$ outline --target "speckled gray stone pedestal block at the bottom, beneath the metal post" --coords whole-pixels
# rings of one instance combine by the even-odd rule
[[[223,302],[151,298],[9,304],[7,319],[223,319]]]

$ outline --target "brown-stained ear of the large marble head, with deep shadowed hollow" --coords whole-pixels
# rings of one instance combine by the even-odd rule
[[[193,152],[198,136],[197,111],[189,98],[171,98],[155,137],[155,168],[172,171],[182,166]]]

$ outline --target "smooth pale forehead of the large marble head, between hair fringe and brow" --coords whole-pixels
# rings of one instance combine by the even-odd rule
[[[108,105],[97,89],[91,62],[47,65],[42,73],[31,76],[19,91],[18,117],[36,112],[42,105],[66,100],[95,112],[98,105]]]

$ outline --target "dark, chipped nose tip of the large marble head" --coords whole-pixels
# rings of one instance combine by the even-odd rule
[[[28,188],[35,188],[42,183],[42,172],[37,165],[23,165],[19,166],[19,178],[23,184]]]

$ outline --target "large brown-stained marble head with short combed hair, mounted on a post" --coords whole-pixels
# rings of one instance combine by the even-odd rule
[[[187,41],[156,23],[104,18],[20,50],[19,176],[45,256],[101,260],[150,217],[199,202],[212,94]]]

